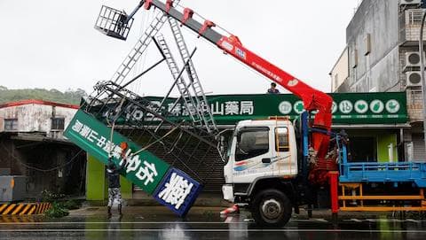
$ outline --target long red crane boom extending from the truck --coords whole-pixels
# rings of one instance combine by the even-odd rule
[[[205,20],[204,23],[200,23],[196,19],[193,19],[193,10],[185,8],[183,12],[179,12],[173,5],[172,0],[167,0],[166,3],[158,0],[140,1],[135,11],[130,14],[130,18],[139,8],[144,7],[146,10],[149,10],[153,6],[168,14],[171,18],[177,19],[182,25],[193,30],[210,43],[214,43],[219,49],[224,50],[225,53],[237,58],[245,65],[250,66],[260,74],[288,89],[297,97],[300,97],[307,111],[318,111],[314,117],[312,127],[323,128],[327,132],[330,131],[333,99],[326,93],[313,89],[304,83],[304,81],[296,79],[293,75],[288,74],[278,66],[274,66],[269,61],[248,50],[242,45],[237,36],[226,36],[218,33],[212,28],[216,27],[214,22]],[[328,143],[329,135],[317,132],[312,133],[312,148],[315,151],[316,157],[319,159],[323,159],[327,153]]]

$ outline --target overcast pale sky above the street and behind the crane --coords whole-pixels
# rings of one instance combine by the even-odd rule
[[[345,29],[359,0],[181,0],[283,70],[329,91],[329,71],[345,46]],[[153,13],[138,12],[127,42],[101,35],[93,26],[102,4],[130,12],[137,0],[0,0],[0,85],[10,89],[85,89],[109,80],[137,42]],[[164,35],[172,44],[164,26]],[[264,93],[268,81],[184,31],[206,92]],[[132,74],[160,57],[150,48]],[[167,66],[155,69],[132,89],[162,95],[171,84]]]

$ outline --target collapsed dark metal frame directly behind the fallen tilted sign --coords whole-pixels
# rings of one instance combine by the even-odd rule
[[[142,146],[140,151],[151,151],[209,190],[209,184],[215,182],[206,180],[223,166],[217,158],[217,139],[202,128],[193,128],[188,117],[176,117],[158,107],[113,81],[102,81],[83,103],[82,110],[108,127],[114,124],[114,131]]]

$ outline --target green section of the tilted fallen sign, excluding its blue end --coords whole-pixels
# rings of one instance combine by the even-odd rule
[[[75,113],[65,135],[71,142],[106,165],[109,154],[112,154],[116,165],[122,162],[122,154],[130,156],[127,158],[122,175],[149,194],[154,192],[170,167],[149,151],[132,155],[131,152],[139,151],[141,147],[116,132],[113,133],[113,141],[110,142],[111,128],[107,128],[102,122],[82,110]],[[120,148],[122,142],[129,145],[126,152],[122,152]]]

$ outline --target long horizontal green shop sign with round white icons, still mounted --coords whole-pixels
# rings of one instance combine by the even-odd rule
[[[406,93],[341,93],[333,97],[333,124],[396,124],[406,123]],[[146,97],[160,103],[160,97]],[[219,95],[207,97],[218,125],[233,125],[239,120],[265,119],[269,116],[296,118],[304,112],[304,103],[291,94]],[[176,99],[168,99],[164,110],[173,117],[187,117],[183,104],[172,109]],[[138,116],[142,117],[140,112]]]

